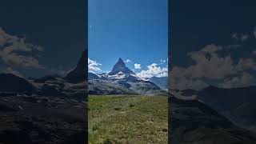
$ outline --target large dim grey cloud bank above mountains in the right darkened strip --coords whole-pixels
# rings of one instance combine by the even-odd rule
[[[218,54],[219,50],[222,50],[221,46],[211,44],[205,46],[202,50],[189,53],[188,56],[194,61],[194,64],[188,67],[174,66],[170,71],[170,86],[179,90],[201,90],[208,86],[206,79],[222,82],[223,79],[241,74],[245,70],[256,70],[254,59],[241,58],[236,63],[230,55],[221,57]],[[249,77],[244,76],[243,82],[240,82],[241,85],[246,86],[246,82],[249,82],[245,81],[245,78]],[[234,83],[234,80],[232,81]],[[230,82],[226,82],[225,85],[230,85],[228,83]],[[218,86],[224,86],[224,84],[219,84]]]

